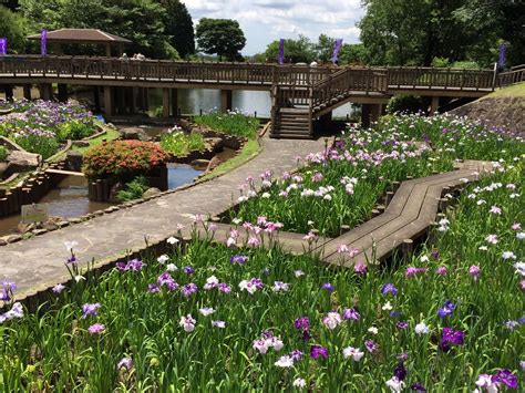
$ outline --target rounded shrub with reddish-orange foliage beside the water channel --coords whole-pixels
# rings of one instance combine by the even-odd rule
[[[87,151],[82,170],[89,177],[125,179],[152,173],[167,157],[166,152],[152,142],[113,141]]]

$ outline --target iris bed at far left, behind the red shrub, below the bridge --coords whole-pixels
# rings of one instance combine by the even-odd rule
[[[66,139],[94,133],[94,117],[82,105],[52,101],[12,103],[14,114],[0,117],[0,135],[25,151],[51,157]]]

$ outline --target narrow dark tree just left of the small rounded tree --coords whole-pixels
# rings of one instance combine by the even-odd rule
[[[171,35],[168,40],[182,58],[195,53],[195,34],[193,31],[192,15],[186,6],[179,0],[161,0],[166,11],[164,31]]]

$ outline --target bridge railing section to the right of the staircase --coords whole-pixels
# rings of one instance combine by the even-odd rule
[[[490,70],[389,68],[389,89],[486,90],[493,89],[494,74]]]

